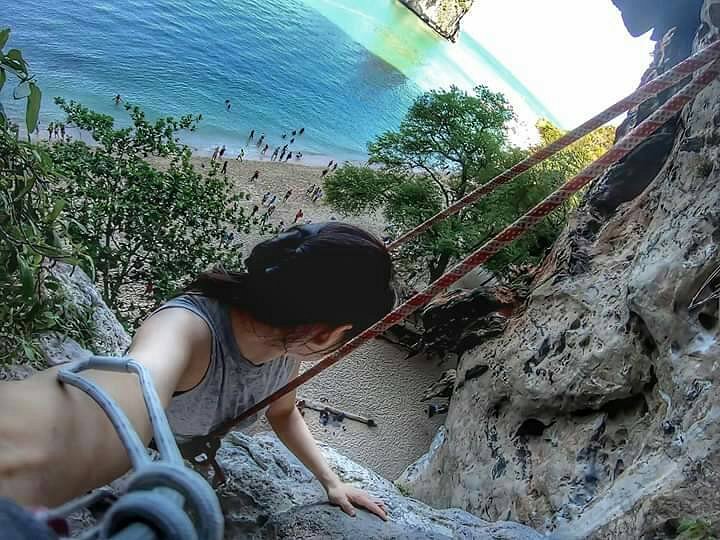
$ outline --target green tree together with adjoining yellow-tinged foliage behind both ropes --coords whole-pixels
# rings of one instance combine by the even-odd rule
[[[513,148],[508,128],[513,112],[502,94],[479,86],[473,94],[457,88],[420,96],[398,130],[368,145],[369,166],[346,165],[325,181],[328,202],[339,212],[381,209],[389,236],[408,230],[460,200],[533,149]],[[547,121],[537,125],[541,145],[562,135]],[[569,176],[599,157],[614,131],[603,128],[526,173],[474,206],[437,224],[401,247],[397,260],[412,276],[424,268],[437,278],[450,264],[522,215]],[[552,244],[573,203],[549,217],[489,263],[533,262]]]

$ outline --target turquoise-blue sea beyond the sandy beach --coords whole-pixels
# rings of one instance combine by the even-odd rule
[[[62,118],[53,96],[122,123],[120,94],[150,116],[201,113],[185,136],[198,152],[234,155],[251,129],[280,145],[304,127],[292,148],[320,163],[363,160],[415,97],[451,84],[489,84],[521,116],[553,118],[476,39],[449,43],[396,0],[15,0],[5,15],[44,93],[41,129]],[[8,88],[2,99],[20,113]]]

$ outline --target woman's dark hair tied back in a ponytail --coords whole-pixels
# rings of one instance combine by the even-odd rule
[[[242,309],[277,328],[352,325],[357,335],[392,310],[392,260],[372,234],[346,223],[292,227],[261,242],[246,272],[200,274],[186,292]]]

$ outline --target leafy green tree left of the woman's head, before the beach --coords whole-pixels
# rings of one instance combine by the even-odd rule
[[[92,135],[52,146],[67,181],[57,190],[76,218],[73,238],[87,246],[106,302],[125,321],[178,290],[193,274],[217,263],[241,266],[241,253],[226,247],[233,230],[250,223],[236,192],[219,174],[192,165],[190,149],[179,142],[199,117],[150,121],[126,105],[130,127],[112,117],[56,98],[67,122]]]

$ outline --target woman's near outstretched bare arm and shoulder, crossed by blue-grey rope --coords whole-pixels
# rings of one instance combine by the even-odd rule
[[[209,330],[189,312],[161,311],[135,335],[129,356],[148,368],[163,405],[195,358],[209,361]],[[200,354],[198,354],[200,351]],[[125,473],[130,462],[105,413],[80,390],[60,384],[57,368],[0,383],[0,496],[55,506]],[[132,374],[86,372],[128,415],[145,442],[150,421]]]

